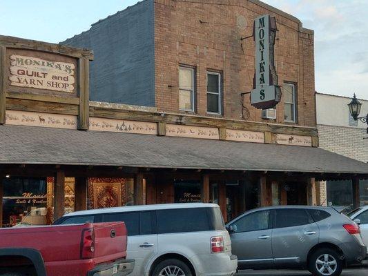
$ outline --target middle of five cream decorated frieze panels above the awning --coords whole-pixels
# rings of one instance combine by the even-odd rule
[[[202,138],[202,139],[220,139],[218,128],[206,128],[200,126],[182,126],[175,124],[166,124],[166,136]]]

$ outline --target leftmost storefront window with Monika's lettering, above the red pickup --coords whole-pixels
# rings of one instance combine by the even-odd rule
[[[47,224],[48,215],[46,177],[3,179],[3,227]]]

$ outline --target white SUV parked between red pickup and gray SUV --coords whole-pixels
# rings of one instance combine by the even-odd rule
[[[157,204],[69,213],[55,224],[124,221],[135,276],[231,276],[238,257],[217,204]]]

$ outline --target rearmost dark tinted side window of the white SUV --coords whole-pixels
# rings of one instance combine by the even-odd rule
[[[157,210],[157,233],[185,233],[224,229],[218,208]]]

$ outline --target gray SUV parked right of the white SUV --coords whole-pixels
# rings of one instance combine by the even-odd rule
[[[313,275],[336,276],[367,253],[358,224],[333,208],[258,208],[226,228],[240,269],[307,268]]]

